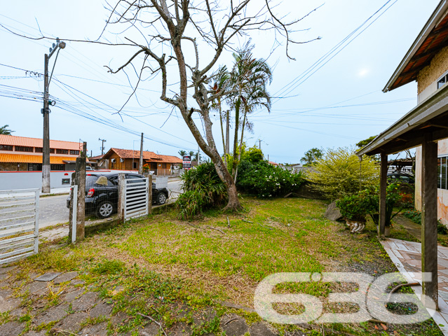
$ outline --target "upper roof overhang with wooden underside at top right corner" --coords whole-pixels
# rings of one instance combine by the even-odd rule
[[[430,64],[442,48],[448,46],[448,0],[442,0],[417,36],[383,92],[416,80],[419,71]]]

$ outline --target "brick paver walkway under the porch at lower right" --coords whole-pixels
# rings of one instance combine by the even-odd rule
[[[391,238],[381,244],[407,282],[421,285],[421,244]],[[448,248],[437,246],[437,258],[440,311],[428,311],[444,335],[448,335]],[[412,286],[412,289],[420,298],[421,286]]]

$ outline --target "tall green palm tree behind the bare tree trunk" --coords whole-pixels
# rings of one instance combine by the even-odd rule
[[[244,129],[247,125],[247,114],[252,113],[260,106],[271,111],[271,96],[266,85],[272,81],[272,71],[264,59],[255,59],[252,56],[254,45],[250,42],[245,48],[233,53],[235,64],[231,72],[231,86],[233,92],[229,97],[229,104],[235,109],[235,136],[233,139],[233,167],[234,179],[238,174],[237,167],[241,157]],[[240,121],[240,109],[243,107],[243,123]],[[238,128],[241,125],[241,138],[238,146]],[[239,151],[238,150],[239,147]]]

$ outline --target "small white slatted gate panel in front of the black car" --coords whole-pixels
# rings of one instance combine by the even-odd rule
[[[150,191],[151,190],[151,191]],[[145,216],[149,211],[148,178],[125,179],[124,220]]]

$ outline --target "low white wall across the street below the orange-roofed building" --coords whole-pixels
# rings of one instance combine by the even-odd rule
[[[69,187],[72,171],[50,173],[50,188]],[[62,184],[62,179],[69,179],[69,184]],[[42,188],[42,172],[0,172],[0,190]]]

